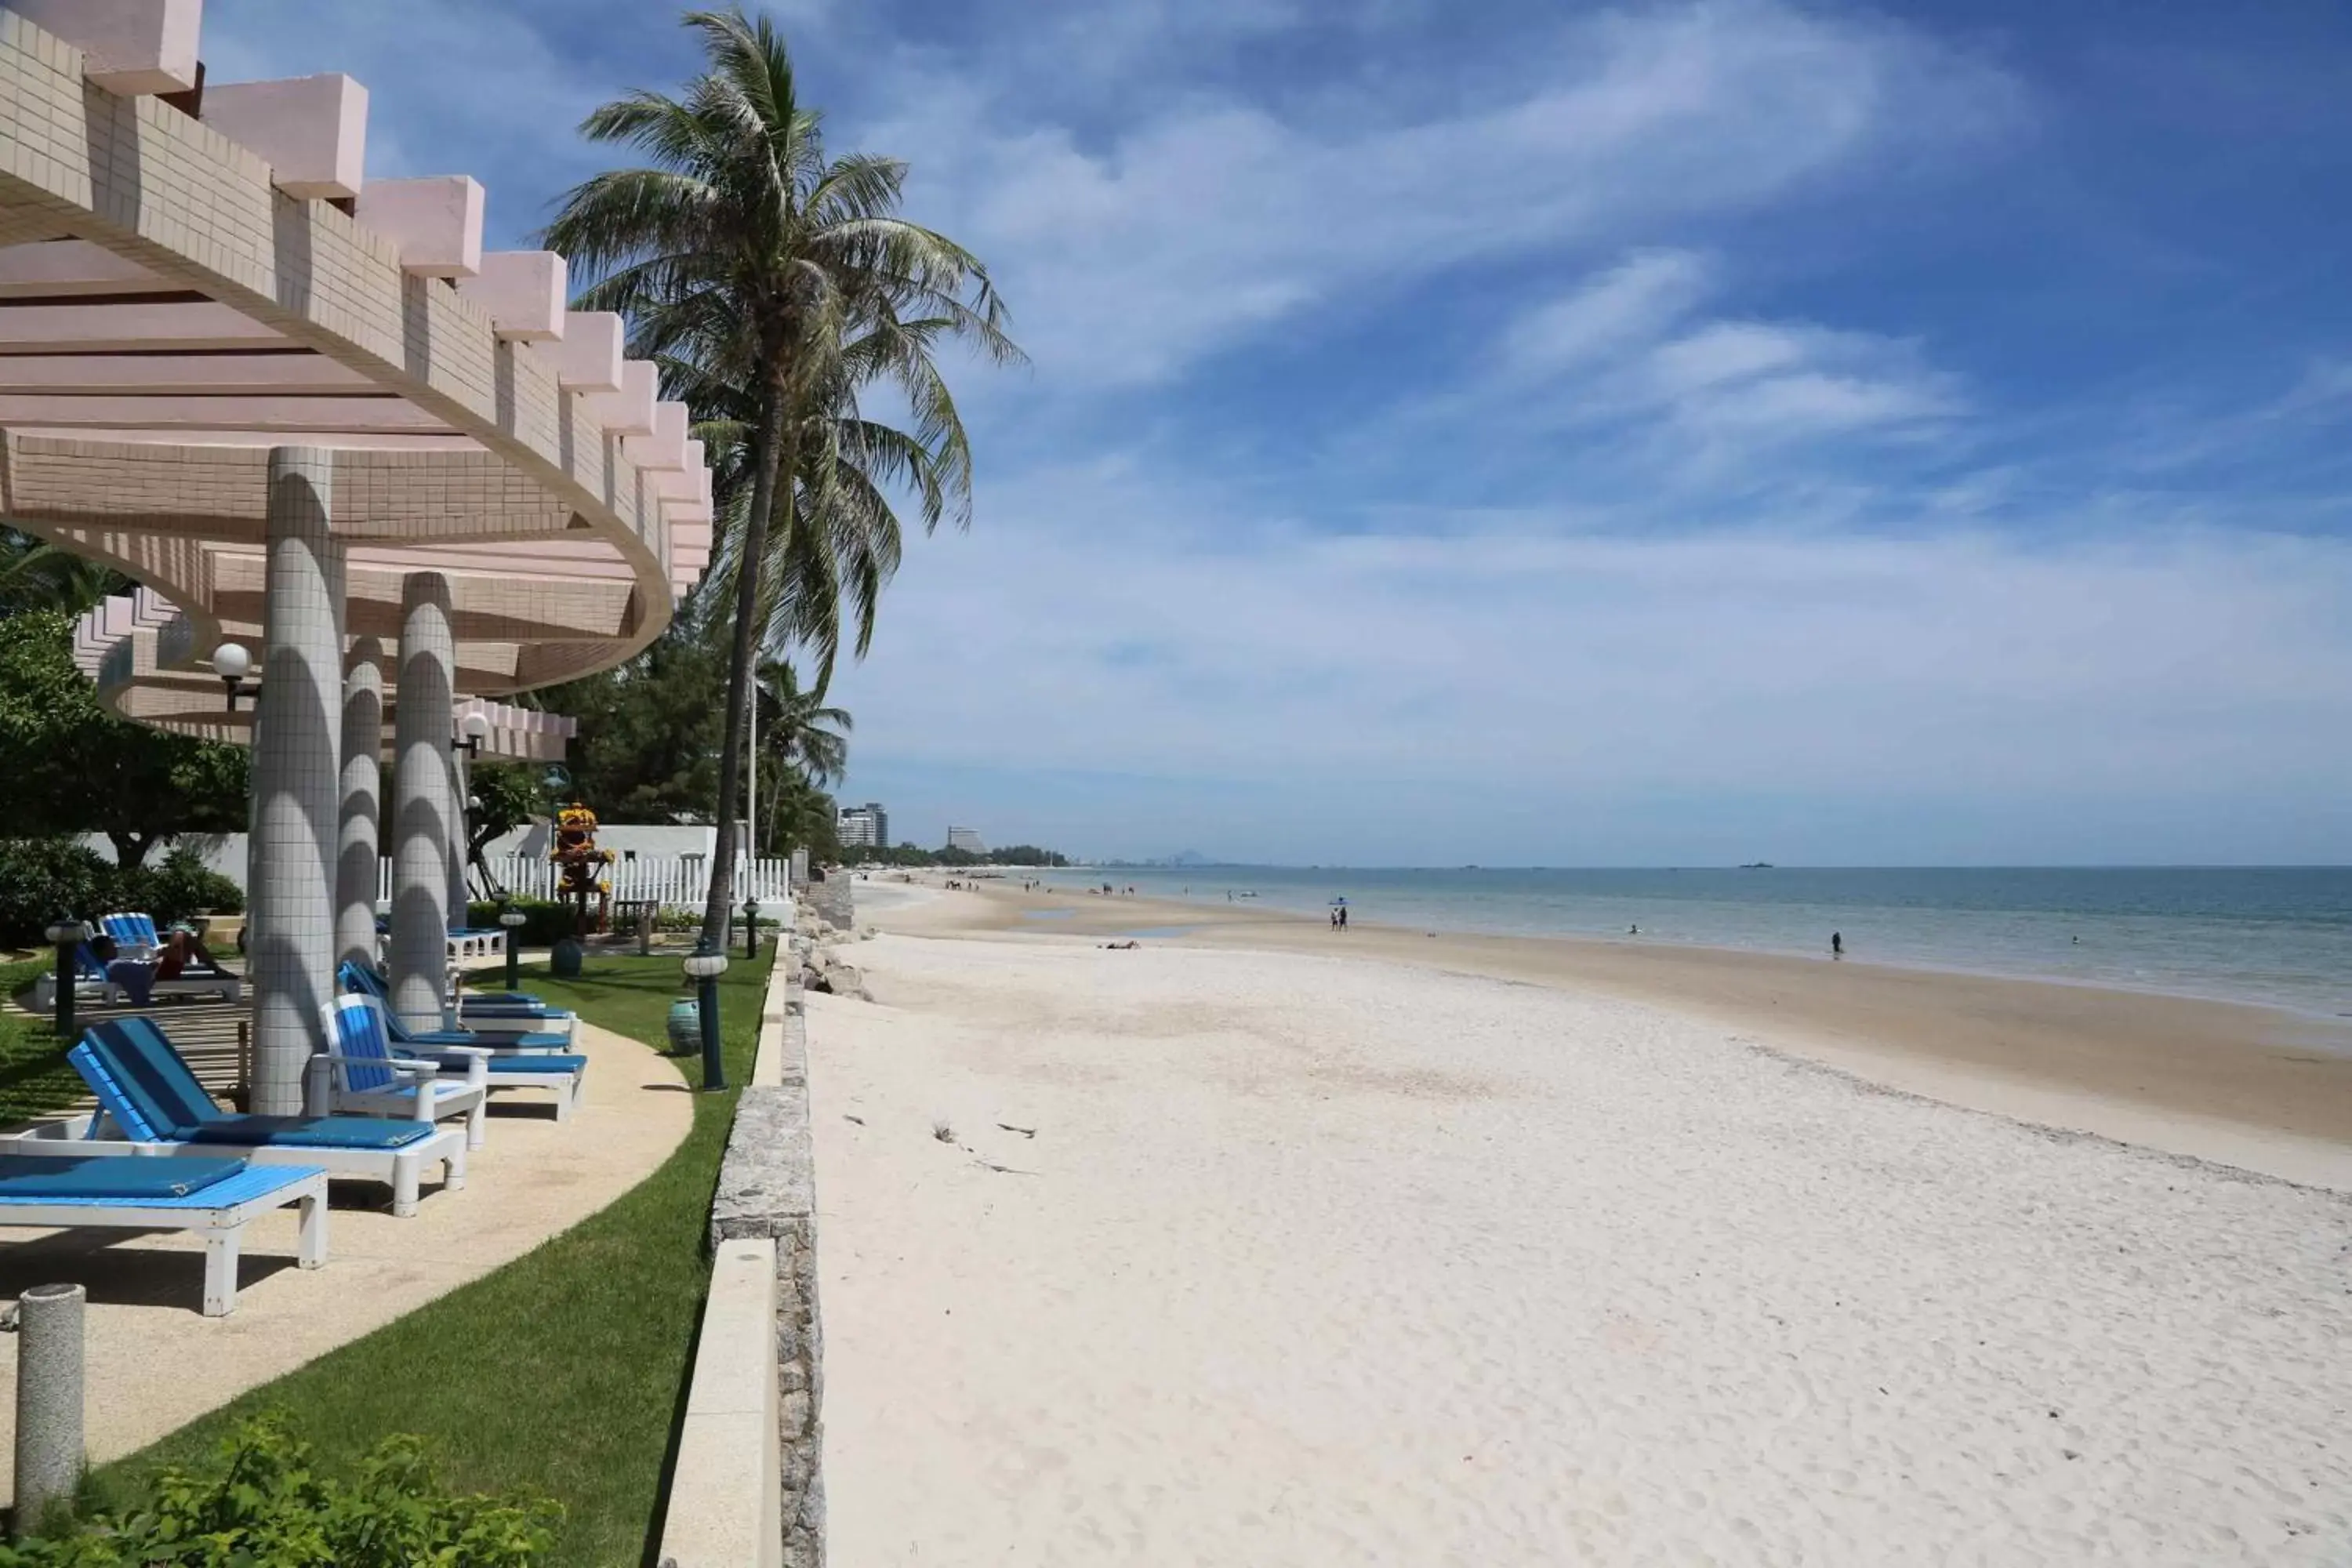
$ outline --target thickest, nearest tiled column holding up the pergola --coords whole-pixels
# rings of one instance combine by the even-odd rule
[[[343,555],[327,531],[332,491],[332,451],[270,451],[245,954],[254,987],[252,1110],[261,1117],[301,1114],[303,1070],[327,1037],[320,1009],[334,994]]]

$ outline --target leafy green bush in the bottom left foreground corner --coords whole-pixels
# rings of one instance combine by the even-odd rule
[[[143,1507],[0,1547],[0,1568],[529,1568],[562,1516],[546,1497],[449,1493],[416,1436],[383,1439],[353,1481],[322,1476],[294,1422],[263,1413],[209,1465],[155,1476]]]

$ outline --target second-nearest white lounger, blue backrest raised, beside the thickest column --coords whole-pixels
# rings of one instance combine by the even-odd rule
[[[393,1187],[393,1213],[416,1213],[428,1164],[442,1190],[466,1185],[466,1135],[374,1117],[238,1117],[212,1103],[153,1018],[92,1025],[66,1060],[99,1098],[87,1117],[0,1138],[0,1154],[242,1154],[256,1166],[320,1166]]]

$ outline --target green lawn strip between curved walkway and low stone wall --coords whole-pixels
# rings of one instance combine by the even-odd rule
[[[675,957],[590,957],[579,980],[524,973],[524,990],[654,1046],[682,994]],[[736,1086],[750,1079],[764,983],[767,959],[736,959],[720,983]],[[701,1058],[680,1067],[701,1081]],[[127,1500],[158,1465],[198,1458],[240,1415],[282,1406],[332,1469],[388,1432],[419,1432],[459,1490],[520,1486],[562,1502],[553,1563],[652,1563],[734,1100],[696,1095],[687,1140],[604,1213],[103,1467],[99,1505]]]

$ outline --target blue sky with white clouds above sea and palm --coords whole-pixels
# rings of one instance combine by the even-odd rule
[[[776,7],[962,369],[844,799],[1091,853],[2352,858],[2333,5]],[[666,5],[209,0],[499,242]]]

